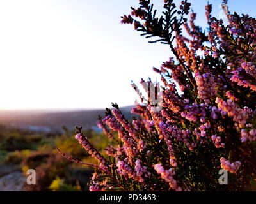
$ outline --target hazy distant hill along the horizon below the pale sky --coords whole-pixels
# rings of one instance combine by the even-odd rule
[[[132,106],[120,108],[127,119],[132,119]],[[98,115],[104,117],[105,110],[0,110],[0,124],[33,131],[61,131],[62,126],[84,129],[97,126]],[[133,115],[135,116],[135,115]]]

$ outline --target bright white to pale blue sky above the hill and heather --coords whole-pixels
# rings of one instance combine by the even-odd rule
[[[179,4],[179,1],[175,1]],[[207,1],[193,0],[205,28]],[[163,0],[152,1],[161,8]],[[223,17],[221,0],[209,0]],[[0,109],[92,109],[134,104],[130,82],[159,80],[172,55],[120,24],[138,0],[0,0]],[[255,17],[255,0],[230,0],[231,12]]]

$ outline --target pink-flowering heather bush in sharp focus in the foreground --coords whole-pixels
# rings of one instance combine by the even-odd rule
[[[81,127],[75,138],[98,164],[61,152],[95,168],[90,191],[243,191],[255,185],[256,20],[223,6],[225,25],[207,4],[208,28],[202,31],[196,13],[188,20],[190,6],[164,0],[163,15],[157,17],[150,0],[140,0],[122,17],[122,24],[133,24],[141,36],[153,39],[150,43],[169,46],[174,57],[153,68],[161,84],[141,79],[147,97],[132,82],[141,102],[147,102],[132,108],[138,117],[128,121],[117,104],[99,117],[109,157],[93,147]],[[228,172],[227,185],[219,183],[221,169]]]

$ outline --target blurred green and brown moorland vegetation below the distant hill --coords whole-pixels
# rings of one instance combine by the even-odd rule
[[[93,168],[65,159],[57,146],[74,159],[95,164],[65,126],[45,133],[0,126],[0,191],[88,191]],[[108,137],[87,129],[84,134],[104,154]],[[35,169],[36,184],[26,184],[26,172]]]

